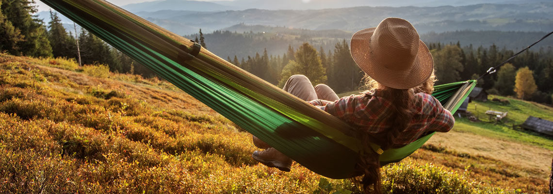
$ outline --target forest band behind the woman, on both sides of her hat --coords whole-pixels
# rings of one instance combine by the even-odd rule
[[[437,85],[476,79],[489,67],[500,64],[515,51],[472,45],[428,43],[434,58]],[[247,56],[241,60],[235,55],[229,62],[279,87],[290,75],[304,74],[314,85],[326,83],[336,92],[359,90],[363,86],[364,73],[353,61],[346,40],[335,44],[333,50],[317,51],[309,43],[298,49],[289,45],[288,52],[281,55],[263,54]],[[518,78],[517,78],[518,77]],[[497,70],[483,77],[478,86],[491,94],[517,96],[540,103],[552,103],[553,98],[553,50],[525,51]]]

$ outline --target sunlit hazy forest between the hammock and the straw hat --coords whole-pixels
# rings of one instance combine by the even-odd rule
[[[311,44],[304,43],[298,49],[288,46],[288,51],[282,56],[268,55],[267,49],[263,54],[247,56],[241,60],[235,55],[227,60],[252,74],[263,78],[279,87],[294,74],[309,77],[312,83],[327,83],[336,92],[358,90],[363,73],[349,54],[349,45],[346,40],[335,44],[333,50],[325,51],[320,46],[319,51]]]

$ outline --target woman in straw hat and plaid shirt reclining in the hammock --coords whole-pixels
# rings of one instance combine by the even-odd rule
[[[284,90],[352,125],[363,142],[380,145],[383,150],[400,148],[431,132],[448,132],[455,120],[434,91],[434,62],[411,23],[386,18],[376,28],[363,29],[351,40],[351,55],[366,74],[371,90],[361,95],[338,98],[326,85],[313,87],[302,75],[291,76]],[[264,151],[252,157],[270,167],[290,171],[292,160],[280,151],[253,137]],[[362,183],[380,191],[379,155],[361,159]],[[367,188],[367,187],[366,187]]]

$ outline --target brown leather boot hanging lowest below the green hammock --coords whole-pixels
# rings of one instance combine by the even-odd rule
[[[263,151],[254,151],[252,158],[261,162],[265,166],[276,167],[285,172],[290,172],[292,159],[274,148],[268,148]]]

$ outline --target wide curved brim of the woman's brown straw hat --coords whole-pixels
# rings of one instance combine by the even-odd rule
[[[391,70],[379,65],[371,56],[370,41],[376,28],[359,30],[351,38],[351,56],[357,66],[368,76],[384,86],[409,89],[420,86],[425,82],[434,70],[434,60],[426,47],[426,44],[419,40],[419,50],[416,54],[413,65],[404,71]]]

